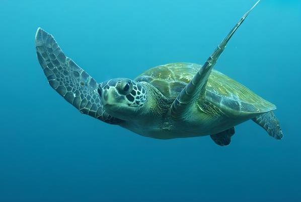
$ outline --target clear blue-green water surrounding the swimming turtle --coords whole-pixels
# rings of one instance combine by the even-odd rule
[[[263,0],[215,67],[277,105],[282,141],[251,121],[228,147],[136,135],[79,113],[36,58],[42,27],[99,82],[202,64],[254,3],[2,0],[0,201],[299,201],[299,0]]]

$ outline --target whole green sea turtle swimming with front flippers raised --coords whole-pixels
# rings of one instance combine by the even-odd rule
[[[258,1],[259,2],[259,1]],[[203,66],[160,65],[134,80],[97,83],[66,57],[52,35],[39,28],[36,51],[49,84],[81,113],[142,136],[172,139],[210,135],[229,145],[234,127],[252,119],[275,139],[283,137],[275,105],[239,82],[212,70],[218,57],[251,10],[239,20]]]

